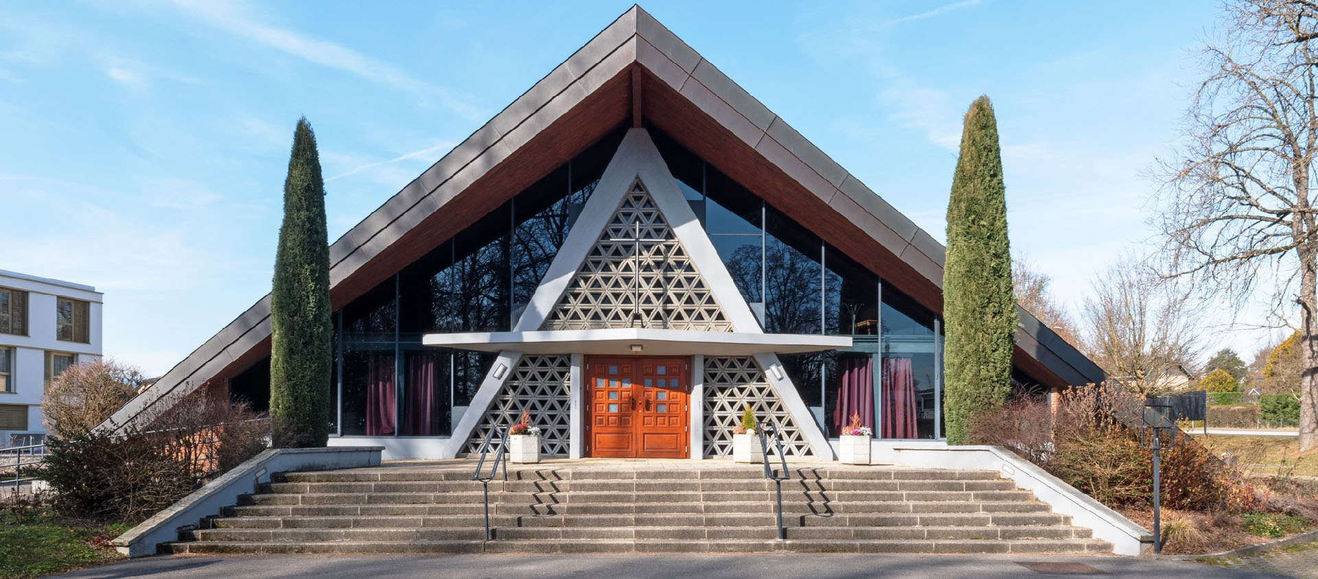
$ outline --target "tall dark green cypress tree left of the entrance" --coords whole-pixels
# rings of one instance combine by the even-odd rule
[[[316,136],[298,120],[270,291],[270,421],[277,447],[330,436],[330,243]]]

